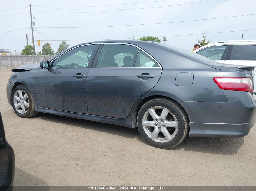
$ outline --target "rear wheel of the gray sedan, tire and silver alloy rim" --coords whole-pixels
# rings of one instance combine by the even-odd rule
[[[140,108],[137,126],[149,145],[168,149],[184,140],[188,134],[188,121],[187,114],[178,103],[166,98],[156,98]]]

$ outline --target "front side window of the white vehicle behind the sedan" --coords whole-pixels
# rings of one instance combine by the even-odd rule
[[[201,49],[196,53],[212,60],[221,60],[221,57],[224,54],[226,48],[227,45],[211,46]]]

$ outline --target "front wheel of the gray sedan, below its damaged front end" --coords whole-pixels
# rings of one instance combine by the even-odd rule
[[[20,97],[22,99],[19,99]],[[19,117],[29,118],[38,114],[35,111],[34,98],[25,85],[17,85],[13,89],[11,101],[13,110]]]

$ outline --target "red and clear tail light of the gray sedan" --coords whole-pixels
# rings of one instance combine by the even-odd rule
[[[252,93],[251,78],[214,77],[213,80],[222,90],[248,91]]]

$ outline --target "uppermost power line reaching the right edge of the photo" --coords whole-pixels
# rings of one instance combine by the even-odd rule
[[[129,25],[111,25],[111,26],[92,26],[92,27],[40,27],[40,28],[98,28],[98,27],[126,27],[126,26],[140,26],[140,25],[151,25],[151,24],[168,24],[168,23],[181,23],[181,22],[190,22],[190,21],[205,21],[211,19],[221,19],[221,18],[232,18],[232,17],[242,17],[255,15],[254,14],[244,14],[244,15],[236,15],[236,16],[228,16],[228,17],[216,17],[216,18],[207,18],[207,19],[196,19],[196,20],[188,20],[188,21],[172,21],[172,22],[163,22],[163,23],[147,23],[147,24],[129,24]]]

